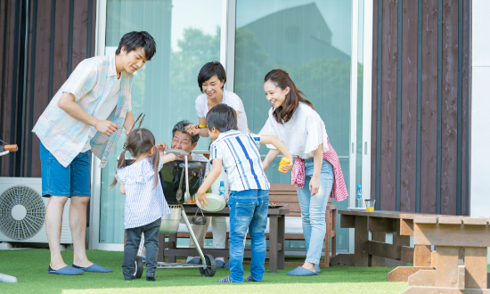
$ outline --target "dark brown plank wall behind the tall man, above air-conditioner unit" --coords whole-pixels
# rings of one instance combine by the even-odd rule
[[[0,158],[0,176],[41,176],[39,140],[31,130],[71,71],[94,56],[95,4],[0,1],[0,139],[19,145]]]

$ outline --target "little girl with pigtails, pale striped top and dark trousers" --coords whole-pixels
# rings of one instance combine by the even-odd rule
[[[125,280],[135,279],[135,259],[144,233],[146,281],[156,281],[161,216],[170,214],[158,173],[163,164],[174,161],[176,155],[164,155],[163,144],[155,145],[155,137],[146,128],[137,128],[127,136],[126,150],[135,158],[135,162],[126,167],[126,151],[122,151],[118,171],[110,184],[113,186],[120,182],[119,191],[126,194],[123,276]]]

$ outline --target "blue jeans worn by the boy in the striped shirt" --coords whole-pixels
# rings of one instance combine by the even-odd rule
[[[269,205],[268,190],[232,191],[230,207],[230,279],[243,282],[243,240],[249,229],[252,241],[250,274],[260,282],[265,273],[265,227]]]

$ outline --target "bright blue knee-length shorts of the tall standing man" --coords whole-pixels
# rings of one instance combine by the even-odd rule
[[[90,197],[90,151],[78,153],[68,167],[63,167],[53,154],[40,144],[43,197],[89,196]]]

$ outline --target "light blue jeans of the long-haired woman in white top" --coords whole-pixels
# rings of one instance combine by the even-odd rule
[[[320,189],[311,196],[310,181],[313,176],[313,159],[305,160],[305,187],[298,190],[299,207],[301,208],[301,220],[306,241],[306,262],[318,265],[322,257],[323,240],[327,232],[325,224],[325,209],[329,202],[331,186],[333,184],[333,167],[331,163],[323,159],[320,172]],[[326,254],[329,254],[328,252]]]

